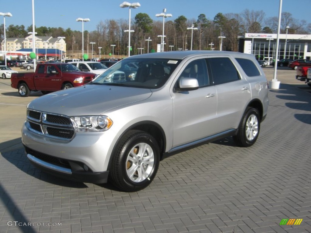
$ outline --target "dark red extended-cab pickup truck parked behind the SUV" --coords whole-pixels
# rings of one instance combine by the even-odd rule
[[[22,97],[30,91],[47,94],[53,91],[84,85],[95,78],[95,74],[82,72],[68,63],[38,64],[35,73],[16,73],[11,76],[11,87],[18,89]]]

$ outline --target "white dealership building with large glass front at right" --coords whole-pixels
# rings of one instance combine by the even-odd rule
[[[253,54],[257,60],[272,60],[276,53],[277,34],[245,33],[239,37],[239,52]],[[280,34],[278,60],[311,60],[310,34]]]

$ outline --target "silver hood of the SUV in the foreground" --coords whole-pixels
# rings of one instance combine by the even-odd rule
[[[150,89],[111,85],[84,85],[41,96],[28,108],[67,116],[100,115],[109,109],[144,100]]]

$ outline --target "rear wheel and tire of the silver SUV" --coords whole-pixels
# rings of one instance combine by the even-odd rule
[[[241,147],[252,146],[258,138],[259,130],[259,112],[256,108],[248,107],[239,125],[238,134],[233,136],[233,140]]]

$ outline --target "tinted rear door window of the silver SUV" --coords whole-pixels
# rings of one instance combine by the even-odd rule
[[[215,85],[240,79],[240,75],[229,57],[207,58],[207,62]]]

